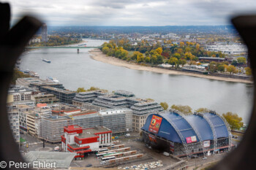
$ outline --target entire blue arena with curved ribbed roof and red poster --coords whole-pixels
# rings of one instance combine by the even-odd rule
[[[146,144],[173,155],[204,155],[230,150],[231,132],[216,112],[183,115],[176,110],[148,115],[142,128]]]

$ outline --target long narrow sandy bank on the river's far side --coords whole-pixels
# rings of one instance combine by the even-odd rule
[[[128,63],[127,61],[123,61],[118,58],[109,57],[102,53],[99,49],[90,50],[89,52],[91,55],[91,58],[96,61],[101,61],[103,63],[110,63],[115,66],[124,66],[128,69],[137,69],[137,70],[143,70],[148,72],[157,72],[162,74],[176,74],[176,75],[187,75],[187,76],[194,76],[194,77],[200,77],[200,78],[206,78],[211,80],[222,80],[222,81],[229,81],[229,82],[245,82],[245,83],[252,83],[252,81],[249,80],[239,80],[239,79],[233,79],[233,78],[226,78],[226,77],[216,77],[216,76],[208,76],[203,74],[195,74],[195,73],[189,73],[189,72],[178,72],[175,70],[168,70],[168,69],[159,69],[155,67],[149,67],[149,66],[141,66],[136,63]]]

